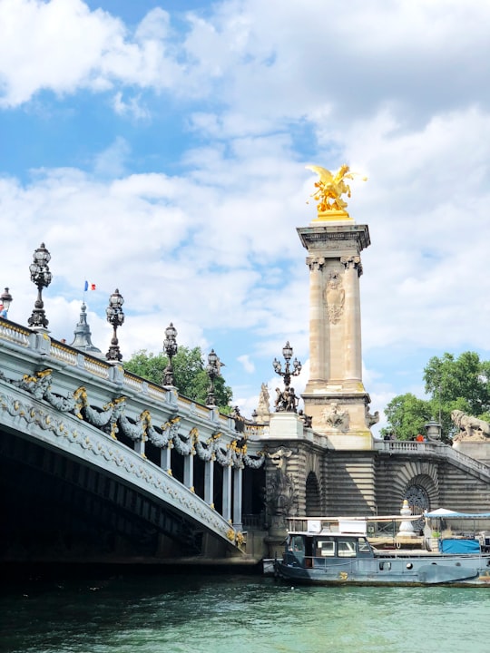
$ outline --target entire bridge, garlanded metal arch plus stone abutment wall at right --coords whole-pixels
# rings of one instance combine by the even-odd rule
[[[255,564],[291,514],[482,512],[490,467],[440,441],[336,448],[296,413],[236,421],[0,319],[0,559]]]

